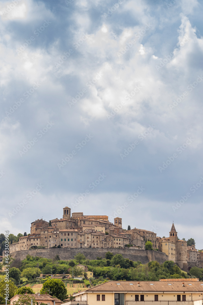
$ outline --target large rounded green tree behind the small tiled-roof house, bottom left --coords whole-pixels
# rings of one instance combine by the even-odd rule
[[[47,280],[40,290],[41,294],[49,293],[51,296],[55,296],[59,300],[63,301],[67,296],[67,289],[65,284],[59,278],[53,278]]]

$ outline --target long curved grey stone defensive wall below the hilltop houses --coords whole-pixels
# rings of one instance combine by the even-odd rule
[[[149,263],[152,260],[157,260],[160,264],[168,260],[168,255],[152,250],[138,249],[119,249],[119,248],[49,248],[49,249],[30,249],[24,251],[16,251],[11,254],[16,260],[23,260],[28,254],[31,256],[40,256],[53,259],[57,254],[61,260],[71,260],[77,253],[82,253],[87,259],[93,260],[96,257],[105,258],[105,254],[110,251],[115,254],[122,254],[124,258],[133,261],[141,261],[142,264]]]

